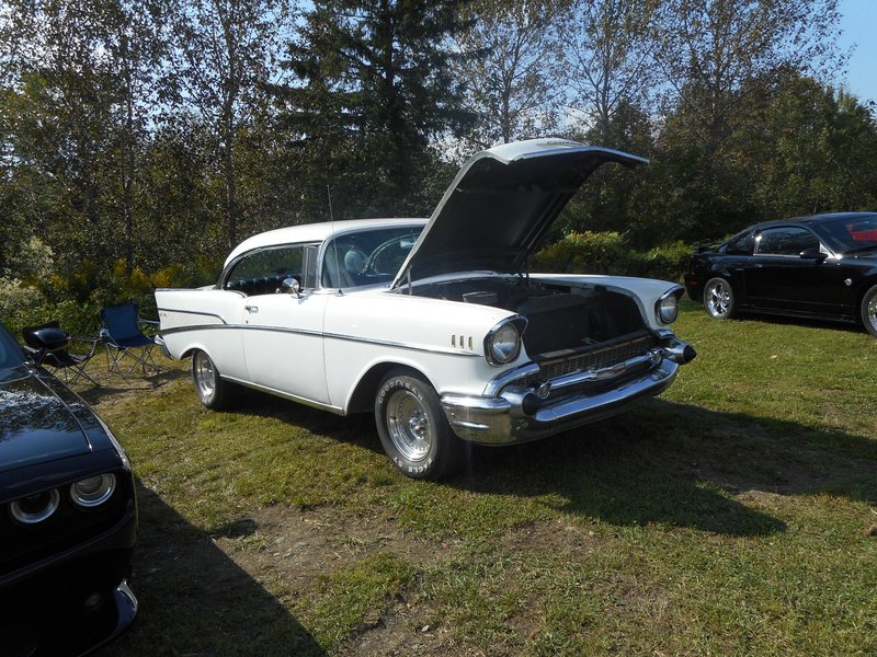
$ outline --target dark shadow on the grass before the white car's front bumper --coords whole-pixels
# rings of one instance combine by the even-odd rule
[[[739,493],[877,502],[877,442],[663,400],[554,438],[472,449],[453,485],[556,495],[563,511],[618,526],[667,523],[728,535],[785,531]]]

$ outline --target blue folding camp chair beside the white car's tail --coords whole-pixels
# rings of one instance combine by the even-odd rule
[[[106,369],[121,377],[129,376],[137,366],[144,374],[146,368],[158,371],[160,368],[152,359],[155,339],[144,335],[140,324],[158,324],[141,320],[136,303],[113,306],[101,310],[101,338],[106,347]],[[127,358],[132,366],[123,371],[123,360]]]

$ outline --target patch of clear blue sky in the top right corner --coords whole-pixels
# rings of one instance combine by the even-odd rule
[[[838,80],[863,103],[877,101],[877,0],[841,0],[841,49],[855,46],[845,79]]]

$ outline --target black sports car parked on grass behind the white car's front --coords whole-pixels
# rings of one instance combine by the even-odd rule
[[[877,336],[877,212],[759,223],[699,247],[685,287],[717,320],[751,310],[861,322]]]

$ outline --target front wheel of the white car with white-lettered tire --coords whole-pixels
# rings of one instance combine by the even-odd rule
[[[411,479],[451,474],[463,457],[432,385],[419,377],[390,372],[375,396],[375,423],[384,451]]]

